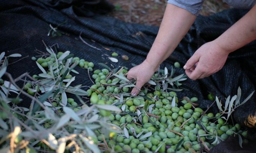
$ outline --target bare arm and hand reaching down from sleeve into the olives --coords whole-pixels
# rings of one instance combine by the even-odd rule
[[[170,56],[180,40],[187,34],[195,18],[196,16],[187,10],[167,4],[158,35],[146,60],[128,72],[128,79],[136,79],[137,87],[133,88],[132,95],[139,93],[139,89],[150,80],[159,65]]]

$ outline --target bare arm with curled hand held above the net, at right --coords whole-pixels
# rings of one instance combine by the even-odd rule
[[[184,66],[192,80],[219,71],[233,52],[256,39],[256,5],[216,40],[202,45]],[[197,65],[195,67],[195,64]]]

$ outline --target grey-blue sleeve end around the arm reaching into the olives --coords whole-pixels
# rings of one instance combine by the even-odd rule
[[[168,3],[181,7],[194,15],[202,10],[204,0],[168,0]]]

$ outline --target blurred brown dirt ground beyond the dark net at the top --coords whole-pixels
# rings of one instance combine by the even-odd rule
[[[115,10],[109,16],[125,22],[159,26],[167,0],[109,0]],[[222,0],[205,0],[201,15],[211,15],[229,8]]]

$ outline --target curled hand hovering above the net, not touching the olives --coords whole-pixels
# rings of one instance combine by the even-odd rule
[[[183,68],[192,80],[208,77],[223,67],[229,53],[216,42],[207,42],[195,51]]]

